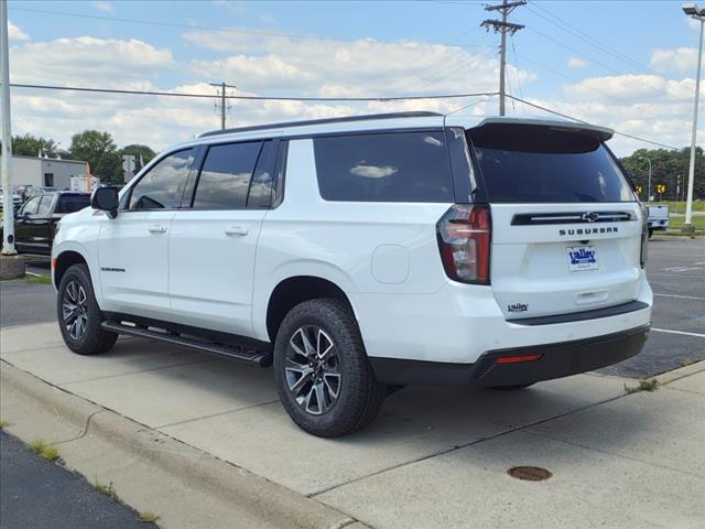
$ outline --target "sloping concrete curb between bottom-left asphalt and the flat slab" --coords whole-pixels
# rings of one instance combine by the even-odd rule
[[[66,465],[89,482],[112,483],[160,526],[343,528],[364,527],[349,516],[149,429],[113,411],[2,363],[2,419],[32,442],[70,422],[78,435],[54,440]],[[11,395],[12,393],[12,395]],[[4,406],[4,401],[12,406]],[[50,412],[47,412],[50,411]],[[36,422],[37,413],[42,424]],[[62,428],[59,428],[62,427]],[[53,435],[56,436],[55,434]]]

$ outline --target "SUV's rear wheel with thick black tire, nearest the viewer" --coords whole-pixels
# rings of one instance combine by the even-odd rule
[[[318,342],[330,342],[332,355],[335,354],[335,365],[332,369],[337,369],[339,377],[337,395],[335,400],[329,402],[326,396],[332,398],[333,391],[329,390],[330,386],[326,387],[326,377],[335,375],[322,371],[323,382],[317,384],[324,388],[321,391],[327,392],[323,397],[324,403],[316,402],[314,406],[310,401],[317,400],[316,396],[323,395],[317,393],[313,387],[316,381],[315,374],[310,376],[308,381],[297,392],[299,398],[305,399],[304,402],[297,401],[296,391],[290,389],[290,385],[296,374],[301,377],[295,379],[294,386],[306,377],[301,374],[301,369],[292,369],[292,365],[300,365],[292,364],[294,359],[299,361],[306,358],[296,353],[292,341],[296,343],[299,337],[303,337],[304,332],[315,335],[316,330],[323,331],[323,337],[317,334]],[[318,345],[315,347],[316,352],[324,348]],[[316,358],[314,355],[312,357]],[[303,369],[315,364],[315,360],[311,364],[306,361],[308,360],[301,364]],[[327,361],[333,363],[333,358],[328,356]],[[321,365],[318,367],[324,369]],[[301,429],[319,438],[338,438],[367,427],[379,413],[387,395],[384,385],[375,378],[355,317],[344,302],[335,299],[305,301],[286,314],[274,342],[274,376],[276,390],[289,415]],[[302,397],[306,392],[307,396]],[[310,406],[314,411],[310,411]]]

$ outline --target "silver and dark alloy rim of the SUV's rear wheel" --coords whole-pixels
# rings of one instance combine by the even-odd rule
[[[299,327],[284,358],[286,387],[307,413],[328,412],[340,395],[340,358],[330,336],[316,325]]]

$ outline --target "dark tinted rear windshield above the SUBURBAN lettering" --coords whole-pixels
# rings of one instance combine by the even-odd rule
[[[632,202],[619,165],[596,138],[541,126],[468,131],[489,202]]]

